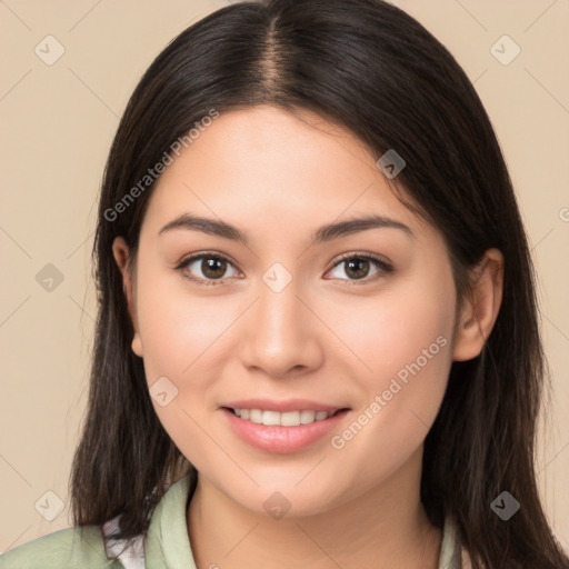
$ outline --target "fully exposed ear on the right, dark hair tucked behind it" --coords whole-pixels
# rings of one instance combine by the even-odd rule
[[[465,298],[455,330],[452,359],[466,361],[483,349],[502,302],[503,254],[488,249],[471,273],[472,291]]]

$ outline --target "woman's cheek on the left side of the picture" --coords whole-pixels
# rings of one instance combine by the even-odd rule
[[[183,279],[163,268],[140,263],[139,276],[137,315],[152,405],[173,442],[201,466],[199,457],[211,452],[200,429],[210,411],[207,389],[221,373],[216,353],[230,315],[223,316],[216,300],[190,295]],[[162,400],[160,392],[167,393]]]

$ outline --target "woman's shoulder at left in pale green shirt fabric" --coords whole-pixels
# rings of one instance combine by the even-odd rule
[[[122,569],[108,559],[101,528],[67,528],[22,543],[0,555],[0,569]]]

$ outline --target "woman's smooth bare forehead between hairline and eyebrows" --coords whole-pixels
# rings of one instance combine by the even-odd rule
[[[269,229],[278,236],[376,213],[428,231],[376,160],[350,131],[308,111],[293,116],[262,106],[226,112],[174,156],[153,189],[146,224],[156,229],[191,211],[251,233],[258,224],[270,239]]]

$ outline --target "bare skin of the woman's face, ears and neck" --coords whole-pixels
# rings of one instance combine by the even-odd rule
[[[167,377],[178,389],[166,407],[153,405],[199,471],[187,521],[200,569],[438,567],[441,531],[419,497],[423,440],[452,360],[476,357],[491,331],[503,259],[487,251],[458,312],[441,232],[401,204],[377,158],[309,112],[223,113],[158,180],[132,271],[124,240],[113,243],[148,385]],[[231,223],[249,241],[188,229],[159,236],[186,212]],[[413,236],[376,228],[310,244],[317,228],[370,213]],[[176,269],[200,252],[231,260],[218,269],[221,284],[184,278],[207,278],[201,260]],[[396,271],[370,262],[358,280],[338,258],[361,252]],[[276,262],[292,277],[280,292],[262,280]],[[352,440],[332,448],[331,436],[440,336],[446,346]],[[220,410],[251,397],[351,410],[330,436],[278,455],[243,442]],[[280,519],[263,507],[276,491],[290,503]]]

